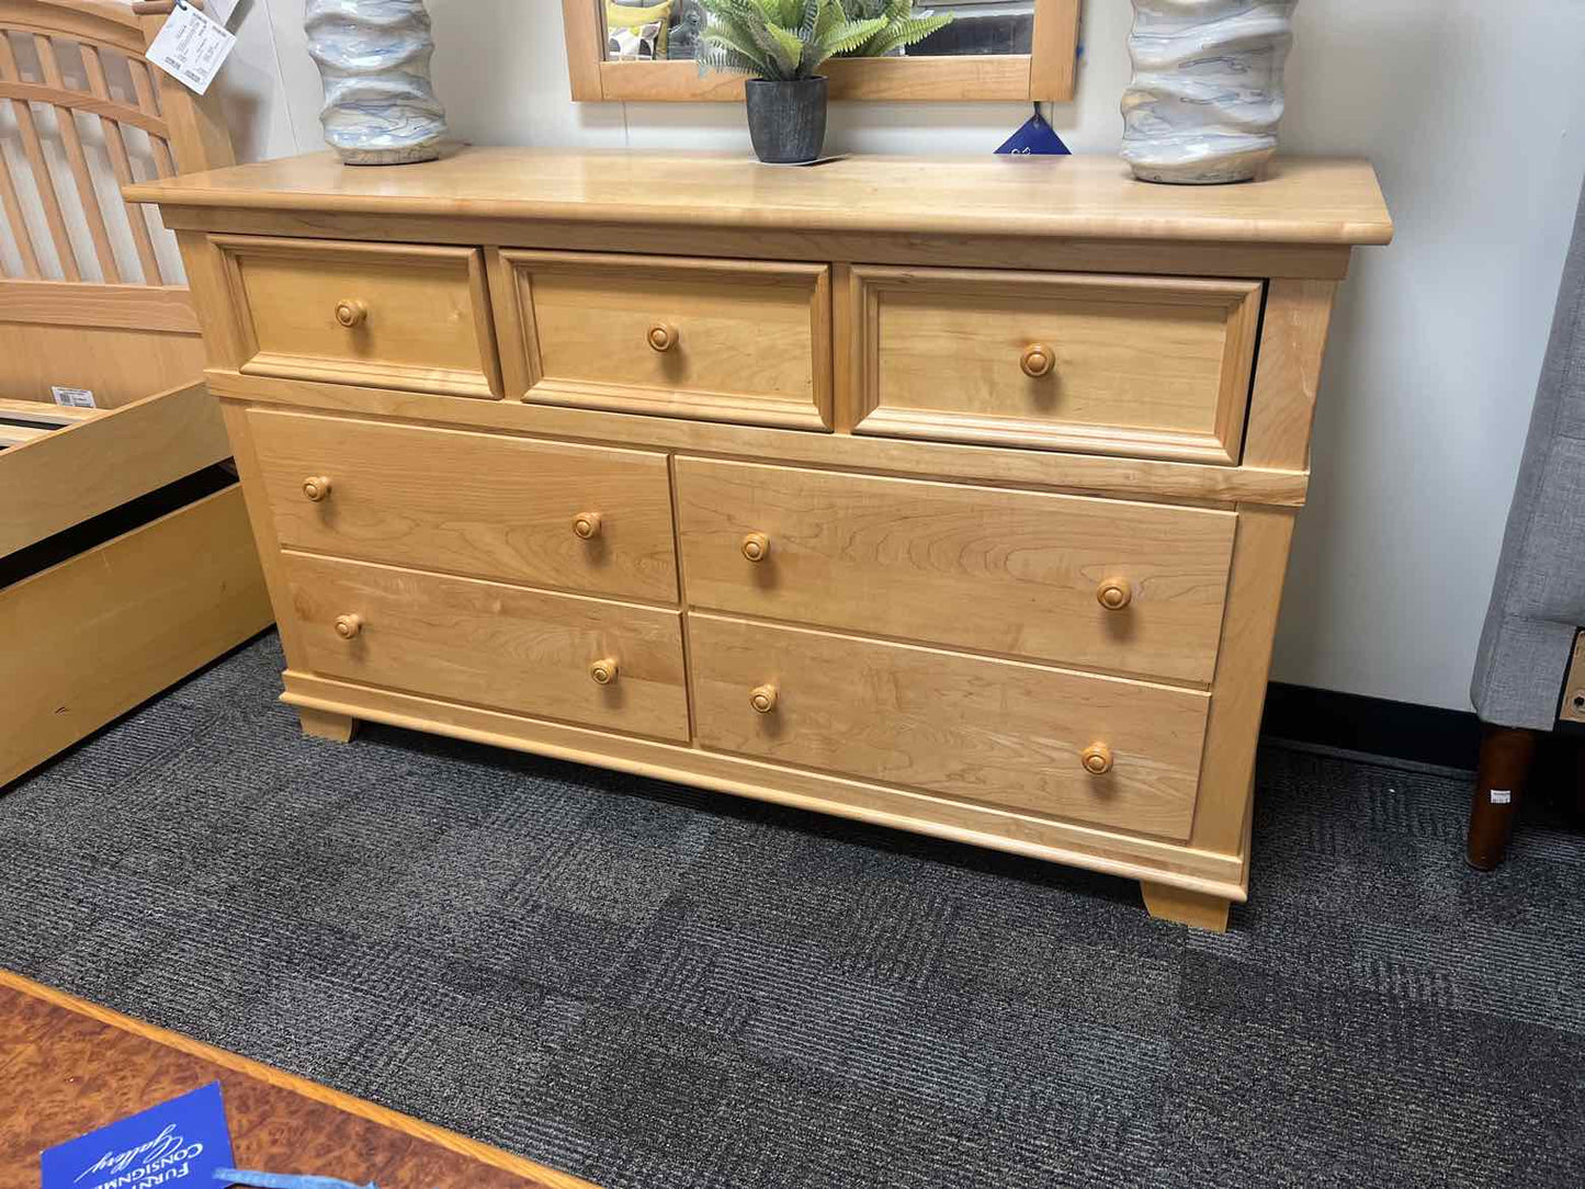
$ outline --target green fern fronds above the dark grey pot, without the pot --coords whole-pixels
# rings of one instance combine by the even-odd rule
[[[853,54],[886,32],[884,16],[850,19],[842,0],[701,3],[710,16],[699,46],[701,75],[735,70],[773,81],[813,78],[826,59]],[[905,8],[911,10],[911,0]]]

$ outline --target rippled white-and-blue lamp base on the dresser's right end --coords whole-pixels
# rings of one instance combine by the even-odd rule
[[[1297,0],[1133,0],[1122,159],[1151,182],[1243,182],[1278,151]]]

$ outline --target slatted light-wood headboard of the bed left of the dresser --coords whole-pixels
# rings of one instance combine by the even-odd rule
[[[160,8],[0,0],[0,398],[117,407],[203,374],[170,233],[119,195],[235,163],[216,89],[143,57]]]

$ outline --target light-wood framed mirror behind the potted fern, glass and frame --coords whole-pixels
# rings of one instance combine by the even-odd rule
[[[951,22],[888,57],[831,59],[834,100],[1070,100],[1079,0],[943,0]],[[742,100],[743,75],[701,76],[699,0],[561,0],[572,98]]]

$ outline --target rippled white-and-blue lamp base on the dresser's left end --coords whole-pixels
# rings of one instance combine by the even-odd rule
[[[430,86],[423,0],[307,0],[307,52],[325,82],[320,124],[349,165],[406,165],[441,155],[445,108]]]

